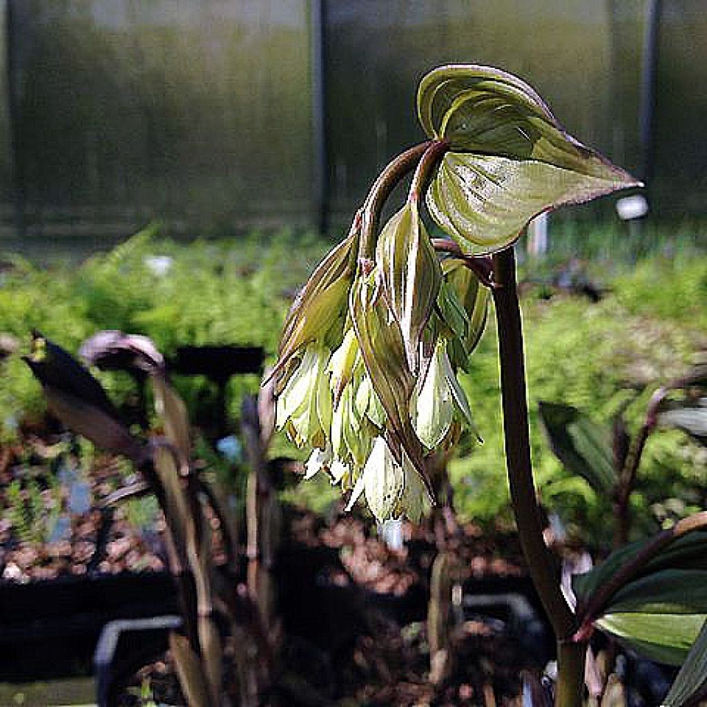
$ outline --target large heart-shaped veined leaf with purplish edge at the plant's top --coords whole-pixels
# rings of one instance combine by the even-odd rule
[[[500,250],[536,216],[639,184],[566,133],[520,78],[442,66],[418,91],[425,132],[450,143],[427,194],[431,215],[467,252]]]

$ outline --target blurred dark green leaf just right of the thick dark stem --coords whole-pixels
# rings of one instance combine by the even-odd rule
[[[609,431],[570,405],[542,401],[539,411],[556,457],[595,491],[612,493],[617,474]]]

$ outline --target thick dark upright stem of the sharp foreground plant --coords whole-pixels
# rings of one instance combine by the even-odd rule
[[[493,255],[493,281],[510,498],[525,561],[558,641],[559,679],[556,705],[580,707],[585,646],[578,644],[574,648],[571,644],[576,628],[575,616],[562,595],[559,576],[542,535],[542,522],[530,461],[522,325],[512,248]]]

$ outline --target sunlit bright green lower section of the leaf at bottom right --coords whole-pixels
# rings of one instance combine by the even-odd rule
[[[706,614],[608,614],[597,626],[650,660],[681,665],[705,619]]]

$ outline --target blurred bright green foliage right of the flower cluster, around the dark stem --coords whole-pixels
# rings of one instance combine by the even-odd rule
[[[616,264],[614,264],[616,267]],[[643,305],[643,283],[651,274],[650,293],[655,313]],[[599,303],[584,298],[556,296],[550,300],[526,294],[523,302],[527,387],[530,408],[534,470],[542,502],[561,518],[585,529],[598,546],[609,539],[605,521],[610,499],[597,494],[584,479],[571,475],[556,459],[542,433],[538,404],[551,400],[572,405],[590,414],[593,423],[609,427],[612,416],[638,395],[627,411],[635,431],[641,423],[650,393],[662,383],[681,375],[704,349],[707,330],[703,324],[707,295],[703,292],[701,314],[682,313],[682,280],[694,286],[707,273],[703,258],[680,257],[665,267],[662,257],[645,259],[631,274],[609,281],[610,290]],[[540,293],[542,295],[542,293]],[[687,303],[696,301],[691,294]],[[503,438],[493,317],[489,329],[472,354],[469,375],[462,382],[472,404],[474,419],[485,444],[472,450],[467,445],[451,464],[455,505],[462,518],[493,520],[510,518],[503,466]],[[467,453],[468,452],[468,453]],[[637,532],[655,529],[653,511],[675,499],[679,515],[699,510],[704,487],[704,460],[696,446],[674,431],[653,434],[641,462],[637,493],[631,499]],[[587,529],[591,529],[587,532]]]

